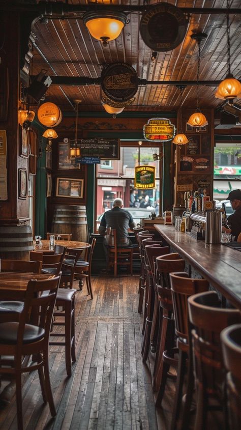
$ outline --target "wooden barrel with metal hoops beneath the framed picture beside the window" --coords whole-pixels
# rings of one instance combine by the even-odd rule
[[[85,206],[57,205],[54,208],[51,233],[72,233],[72,240],[87,242],[88,225]]]

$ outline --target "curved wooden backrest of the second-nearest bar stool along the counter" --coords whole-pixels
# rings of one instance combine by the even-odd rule
[[[196,379],[206,392],[222,397],[225,371],[221,351],[221,331],[241,322],[237,309],[221,308],[215,291],[195,294],[188,298],[189,319],[194,329],[192,341]]]

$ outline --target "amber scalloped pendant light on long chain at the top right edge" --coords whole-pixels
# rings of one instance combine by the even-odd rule
[[[228,56],[227,67],[228,74],[226,78],[219,84],[215,93],[215,97],[221,100],[227,100],[229,104],[233,104],[233,100],[241,97],[241,83],[235,79],[231,73],[230,66],[230,25],[229,25],[229,0],[227,0],[227,42]]]

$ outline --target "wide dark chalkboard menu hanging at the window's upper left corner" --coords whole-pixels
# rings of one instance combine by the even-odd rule
[[[70,141],[70,146],[74,141]],[[119,139],[78,139],[81,157],[100,157],[102,160],[119,160]]]

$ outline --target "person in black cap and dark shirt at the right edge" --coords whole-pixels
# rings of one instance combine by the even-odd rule
[[[228,224],[231,230],[226,227],[222,227],[222,230],[226,233],[231,233],[235,236],[235,241],[237,241],[239,233],[241,233],[241,190],[232,190],[228,194],[228,200],[230,200],[232,209],[235,211],[232,215],[228,217]]]

